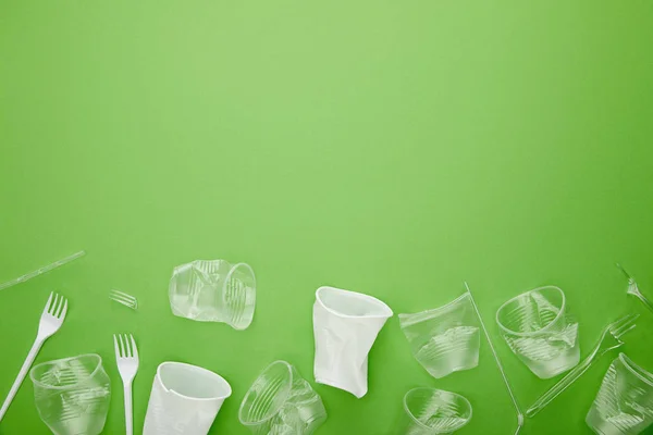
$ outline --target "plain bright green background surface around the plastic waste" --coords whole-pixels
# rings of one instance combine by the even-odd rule
[[[582,355],[642,312],[626,351],[653,370],[653,316],[614,266],[653,296],[652,23],[648,0],[0,0],[0,282],[88,252],[0,293],[0,397],[51,290],[71,307],[37,362],[100,353],[109,434],[124,433],[113,333],[140,350],[135,433],[156,366],[176,360],[233,386],[211,434],[246,434],[238,406],[269,362],[312,383],[321,285],[401,313],[468,281],[525,408],[556,380],[509,352],[494,312],[537,286],[566,291]],[[173,266],[217,258],[257,273],[245,332],[170,311]],[[609,360],[523,433],[590,434]],[[479,368],[436,381],[395,315],[369,363],[362,399],[313,383],[319,434],[387,433],[415,386],[470,399],[460,435],[514,431],[486,344]],[[0,433],[48,433],[28,380]]]

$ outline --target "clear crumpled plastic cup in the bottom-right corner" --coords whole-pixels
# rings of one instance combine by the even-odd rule
[[[612,362],[586,418],[601,435],[636,435],[653,422],[653,374],[625,353]]]

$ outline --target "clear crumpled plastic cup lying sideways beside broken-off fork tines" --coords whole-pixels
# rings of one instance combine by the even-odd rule
[[[196,260],[174,268],[169,297],[174,315],[245,330],[254,319],[256,276],[247,263]]]

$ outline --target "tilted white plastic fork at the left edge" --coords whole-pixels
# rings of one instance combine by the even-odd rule
[[[36,356],[38,355],[38,351],[40,350],[41,346],[49,337],[54,335],[54,333],[59,331],[59,328],[63,324],[66,311],[67,299],[52,291],[50,294],[48,302],[46,303],[44,313],[41,314],[41,319],[38,324],[38,333],[36,334],[34,345],[32,345],[32,349],[29,350],[29,353],[27,353],[27,358],[25,359],[25,362],[23,363],[23,366],[21,368],[16,380],[11,386],[9,395],[7,395],[7,398],[2,403],[2,408],[0,409],[0,421],[2,421],[2,418],[7,413],[11,401],[15,397],[16,393],[19,393],[19,388],[21,388],[21,384],[25,380],[25,376],[27,375],[27,372],[29,371],[32,363],[36,359]]]

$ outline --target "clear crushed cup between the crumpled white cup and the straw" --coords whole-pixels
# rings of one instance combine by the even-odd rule
[[[399,314],[399,325],[417,361],[435,378],[479,364],[481,335],[468,293],[440,308]]]

